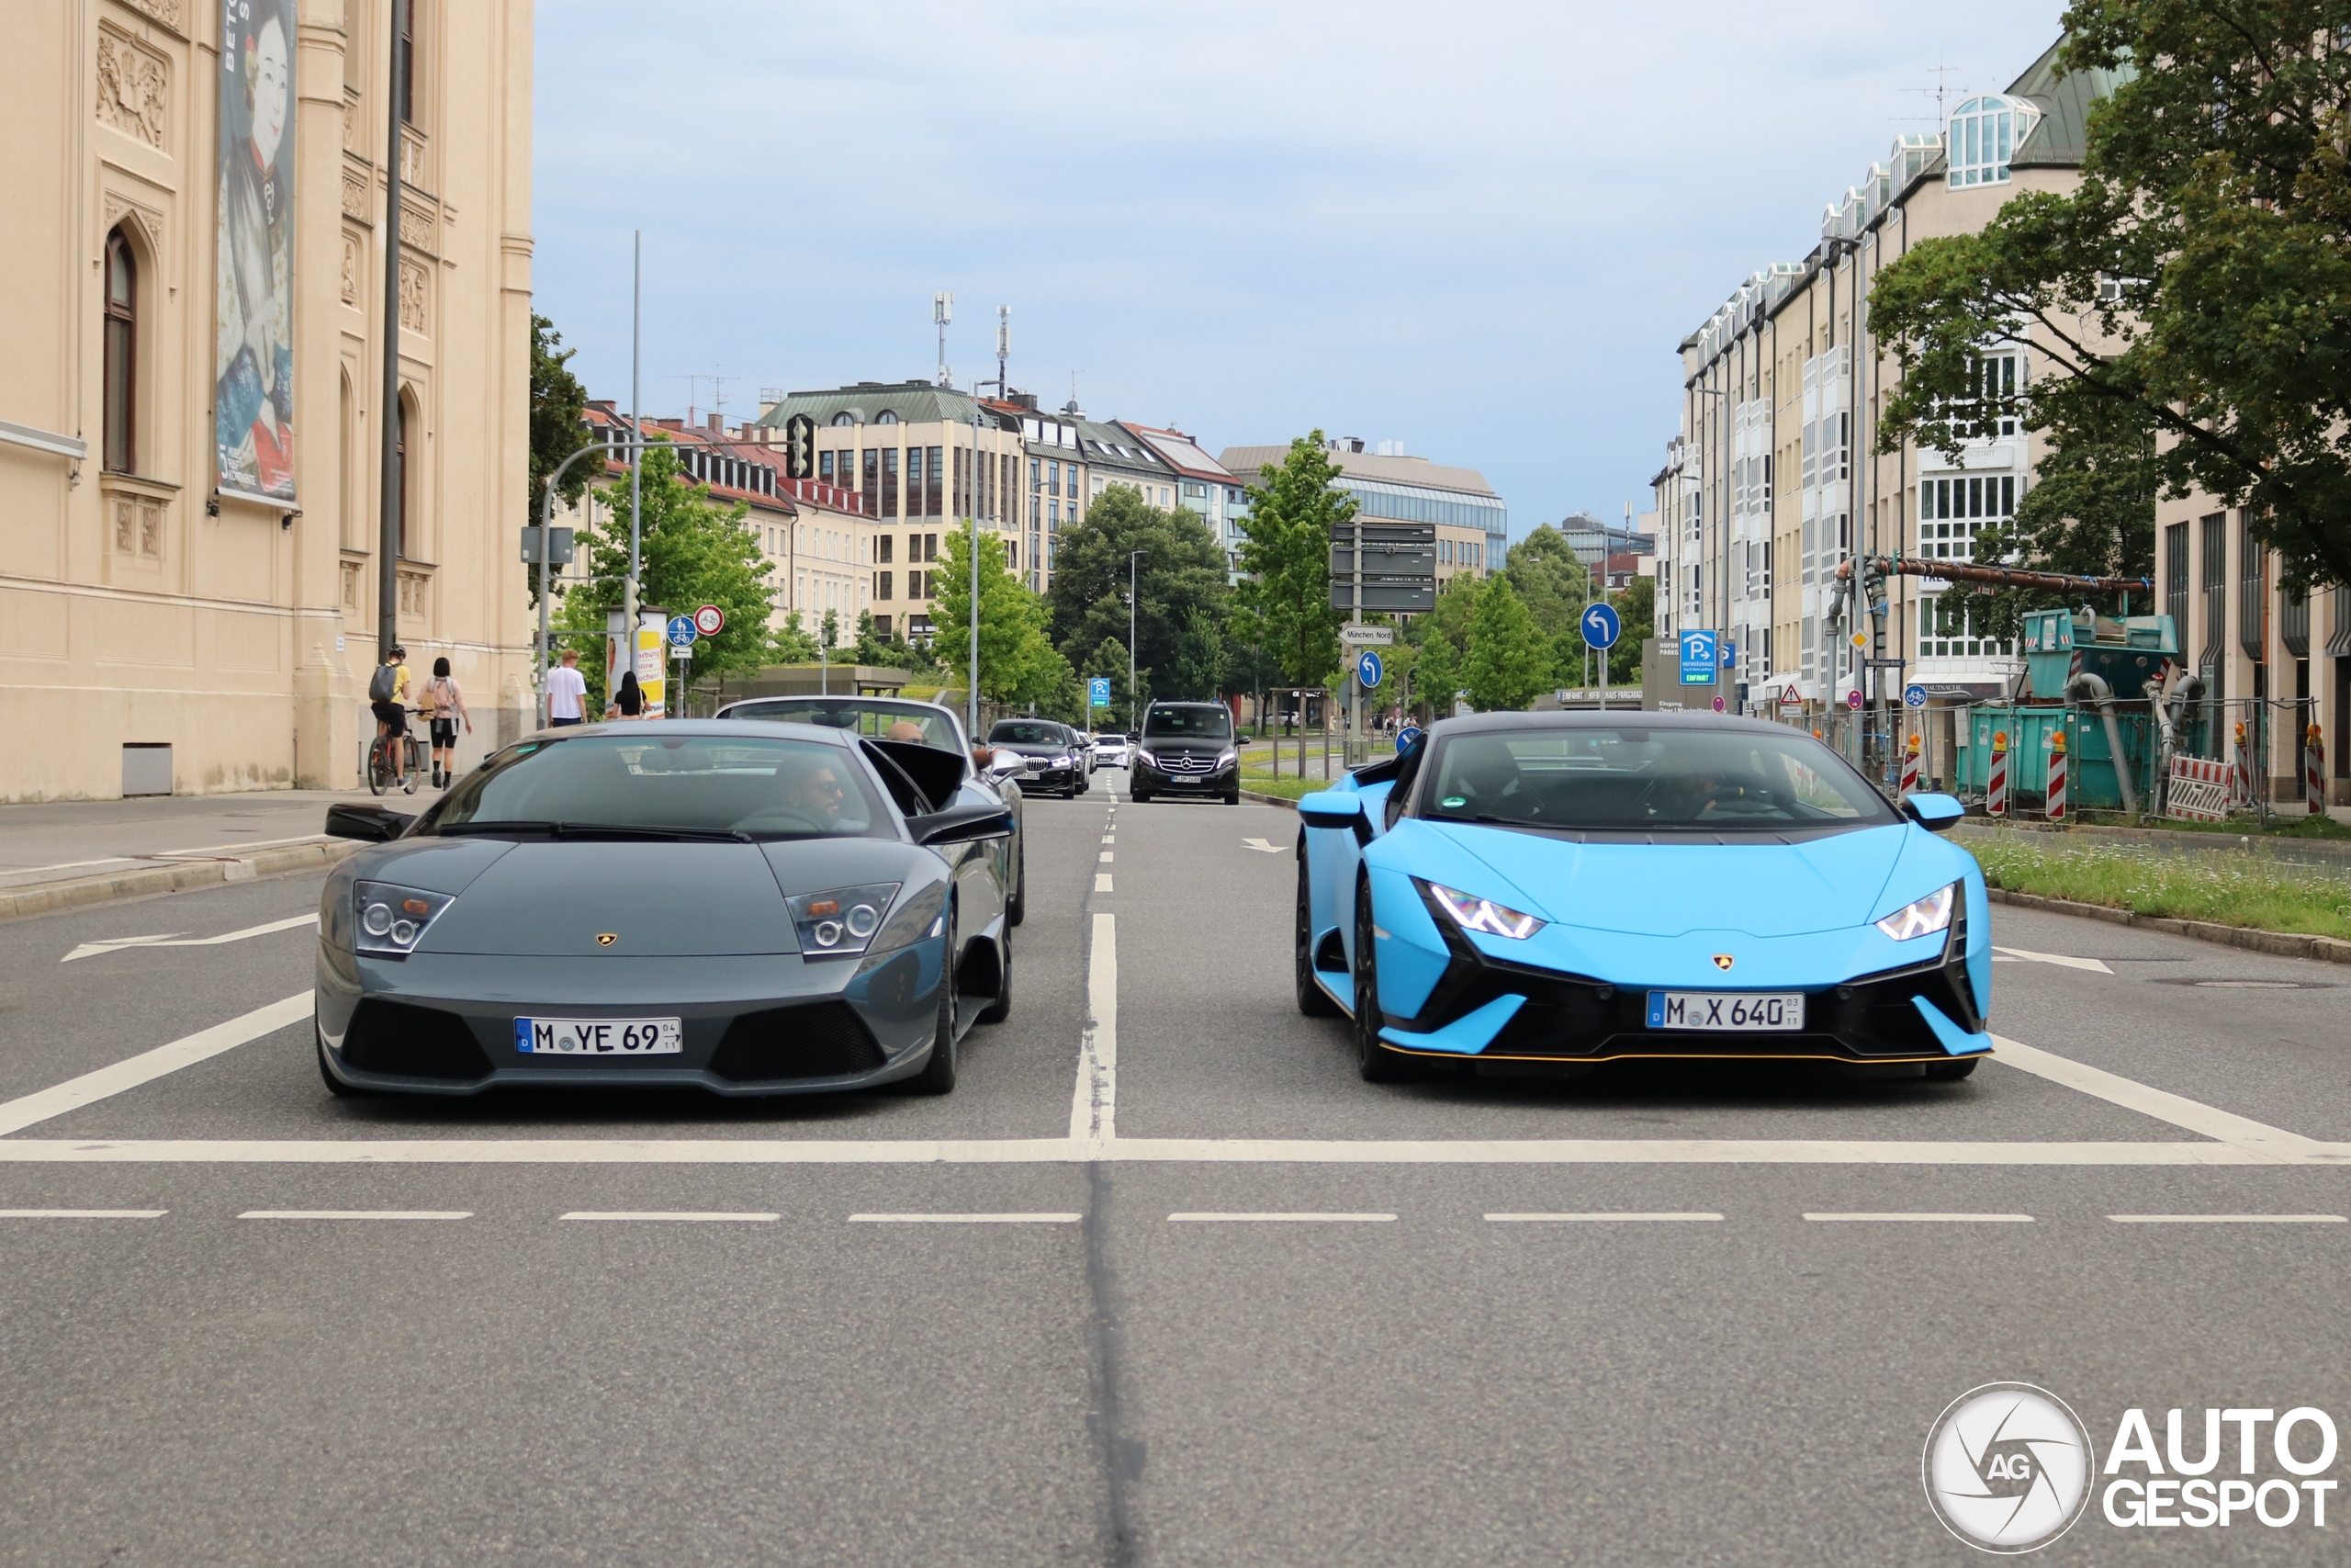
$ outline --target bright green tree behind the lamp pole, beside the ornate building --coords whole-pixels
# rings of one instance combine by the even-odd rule
[[[776,637],[766,625],[773,567],[762,555],[759,538],[743,527],[750,508],[741,501],[710,501],[710,487],[679,473],[677,451],[668,442],[644,454],[642,489],[639,604],[663,604],[670,614],[701,604],[726,611],[726,628],[694,644],[691,679],[748,675],[773,663]],[[628,578],[628,484],[607,484],[597,498],[609,508],[607,522],[581,534],[590,578],[564,595],[560,611],[564,630],[574,632],[574,646],[581,632],[604,632],[604,611],[621,607]]]

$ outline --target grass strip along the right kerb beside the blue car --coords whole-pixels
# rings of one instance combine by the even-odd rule
[[[1984,882],[2163,919],[2351,938],[2351,879],[2245,853],[2163,856],[2132,844],[1968,842]]]

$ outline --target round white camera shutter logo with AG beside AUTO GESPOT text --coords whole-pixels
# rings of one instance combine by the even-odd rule
[[[1925,1500],[1980,1552],[2038,1552],[2081,1519],[2097,1455],[2074,1410],[2029,1382],[1968,1389],[1925,1434]]]

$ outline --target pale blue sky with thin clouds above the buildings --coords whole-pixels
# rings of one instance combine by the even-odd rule
[[[644,409],[947,362],[1211,451],[1476,468],[1512,534],[1648,510],[1674,346],[2055,0],[541,0],[534,282]],[[1937,68],[1944,68],[1937,73]]]

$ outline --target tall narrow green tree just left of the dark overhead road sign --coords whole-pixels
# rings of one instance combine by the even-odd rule
[[[1338,663],[1331,529],[1354,517],[1354,501],[1331,489],[1338,473],[1324,433],[1302,435],[1279,465],[1258,470],[1241,520],[1246,578],[1234,597],[1253,614],[1265,651],[1298,686],[1328,684]]]

